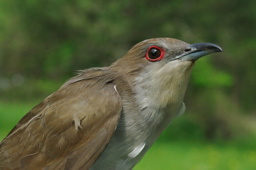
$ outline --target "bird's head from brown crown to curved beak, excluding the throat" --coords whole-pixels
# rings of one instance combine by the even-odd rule
[[[111,68],[129,78],[143,73],[153,76],[184,72],[190,70],[200,57],[221,51],[219,46],[211,43],[190,45],[172,38],[147,39],[133,46]]]

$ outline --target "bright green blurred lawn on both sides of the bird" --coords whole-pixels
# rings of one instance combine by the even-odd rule
[[[0,100],[0,141],[13,126],[40,101],[5,102]],[[248,141],[247,141],[248,142]],[[252,145],[255,146],[255,145]],[[245,143],[216,144],[200,139],[158,141],[134,170],[254,170],[256,148]]]

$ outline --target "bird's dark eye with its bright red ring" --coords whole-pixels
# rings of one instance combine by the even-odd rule
[[[163,59],[165,49],[159,48],[158,46],[151,46],[147,50],[146,59],[149,61],[159,61]]]

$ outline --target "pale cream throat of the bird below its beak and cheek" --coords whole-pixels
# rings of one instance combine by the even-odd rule
[[[142,107],[162,109],[180,105],[189,83],[194,63],[167,65],[158,72],[143,72],[136,78],[136,96]],[[163,71],[163,70],[165,71]],[[152,69],[153,70],[153,69]]]

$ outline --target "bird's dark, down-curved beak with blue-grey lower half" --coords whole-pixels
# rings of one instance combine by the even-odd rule
[[[212,43],[191,44],[184,49],[182,54],[169,61],[176,59],[181,59],[181,61],[196,61],[199,58],[214,52],[222,52],[222,49],[216,44]]]

